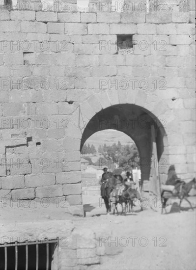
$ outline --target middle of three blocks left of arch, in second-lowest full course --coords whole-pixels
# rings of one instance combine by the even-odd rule
[[[42,173],[40,175],[25,175],[25,185],[27,188],[55,185],[55,174]]]

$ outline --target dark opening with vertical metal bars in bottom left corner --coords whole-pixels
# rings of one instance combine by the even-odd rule
[[[56,246],[58,238],[0,244],[0,270],[51,270]]]

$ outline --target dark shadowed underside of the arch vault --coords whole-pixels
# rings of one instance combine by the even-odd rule
[[[87,123],[81,139],[81,150],[85,141],[94,133],[103,130],[117,130],[130,136],[138,147],[141,162],[141,181],[149,180],[152,135],[155,128],[158,161],[166,154],[164,137],[167,136],[164,123],[145,108],[135,104],[118,104],[97,112]],[[142,161],[145,163],[142,165]]]

